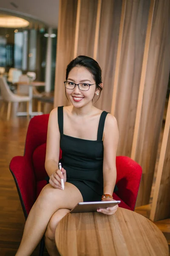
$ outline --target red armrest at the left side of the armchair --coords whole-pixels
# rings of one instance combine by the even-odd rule
[[[26,157],[13,157],[9,169],[17,186],[25,218],[36,198],[36,182],[32,163]]]

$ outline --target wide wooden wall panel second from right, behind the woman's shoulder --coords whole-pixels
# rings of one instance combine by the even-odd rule
[[[119,127],[117,154],[130,157],[141,78],[144,42],[150,1],[127,1],[119,61],[118,81],[114,86],[114,116]],[[142,31],[142,33],[139,33]],[[116,74],[115,74],[116,75]],[[116,79],[116,77],[115,77]]]

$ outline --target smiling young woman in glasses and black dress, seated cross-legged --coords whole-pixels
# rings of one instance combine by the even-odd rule
[[[49,184],[28,215],[17,256],[31,255],[44,233],[48,253],[58,255],[54,240],[58,222],[79,202],[113,200],[119,131],[114,116],[93,106],[103,88],[99,64],[78,56],[68,64],[64,83],[71,106],[50,113],[45,158]],[[113,214],[117,208],[98,212]]]

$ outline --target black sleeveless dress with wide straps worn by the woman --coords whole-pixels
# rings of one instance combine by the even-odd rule
[[[76,186],[84,202],[101,201],[103,195],[103,130],[108,112],[103,111],[97,140],[84,140],[63,134],[63,106],[58,107],[58,124],[66,181]],[[49,180],[49,178],[48,178]]]

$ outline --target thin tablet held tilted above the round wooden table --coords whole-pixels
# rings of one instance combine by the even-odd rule
[[[77,212],[96,212],[97,209],[104,209],[120,204],[121,201],[98,201],[98,202],[81,202],[78,203],[70,213]]]

